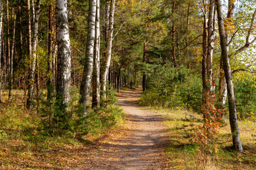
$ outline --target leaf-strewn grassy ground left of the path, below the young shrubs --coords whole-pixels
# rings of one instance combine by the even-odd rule
[[[2,91],[0,169],[73,169],[73,166],[83,166],[86,157],[95,154],[92,148],[96,141],[124,119],[122,110],[110,105],[108,110],[88,118],[90,128],[83,140],[69,134],[49,136],[40,127],[41,118],[36,108],[29,111],[24,107],[23,91],[13,93],[13,102],[8,103],[8,91]]]

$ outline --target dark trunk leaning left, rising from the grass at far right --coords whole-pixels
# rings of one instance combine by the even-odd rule
[[[243,152],[242,144],[240,141],[240,132],[238,128],[238,115],[235,107],[235,93],[233,89],[233,79],[228,59],[228,45],[227,45],[227,35],[225,34],[225,26],[223,22],[223,11],[221,7],[221,1],[215,0],[217,12],[218,12],[218,26],[220,33],[220,45],[221,45],[221,57],[223,58],[223,66],[225,72],[225,79],[227,81],[228,87],[228,106],[230,113],[230,128],[233,138],[233,147],[239,152]]]

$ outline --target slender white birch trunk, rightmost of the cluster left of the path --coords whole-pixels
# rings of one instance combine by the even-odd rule
[[[102,98],[105,99],[107,97],[107,74],[110,68],[110,61],[112,55],[112,38],[113,38],[113,31],[114,31],[114,1],[111,0],[110,2],[110,18],[109,18],[109,26],[108,26],[108,33],[107,33],[107,58],[105,68],[103,69],[102,74],[102,86],[101,89],[103,91]]]

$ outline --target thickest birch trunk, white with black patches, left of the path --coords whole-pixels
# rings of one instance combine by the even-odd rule
[[[68,28],[67,0],[56,0],[56,40],[57,52],[57,82],[56,96],[60,100],[60,109],[66,109],[70,102],[71,57],[70,36]]]

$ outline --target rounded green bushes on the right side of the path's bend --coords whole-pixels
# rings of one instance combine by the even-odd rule
[[[168,64],[154,67],[148,74],[148,91],[144,92],[139,103],[143,106],[158,106],[164,108],[201,109],[201,79],[195,77],[190,70],[173,68]]]

